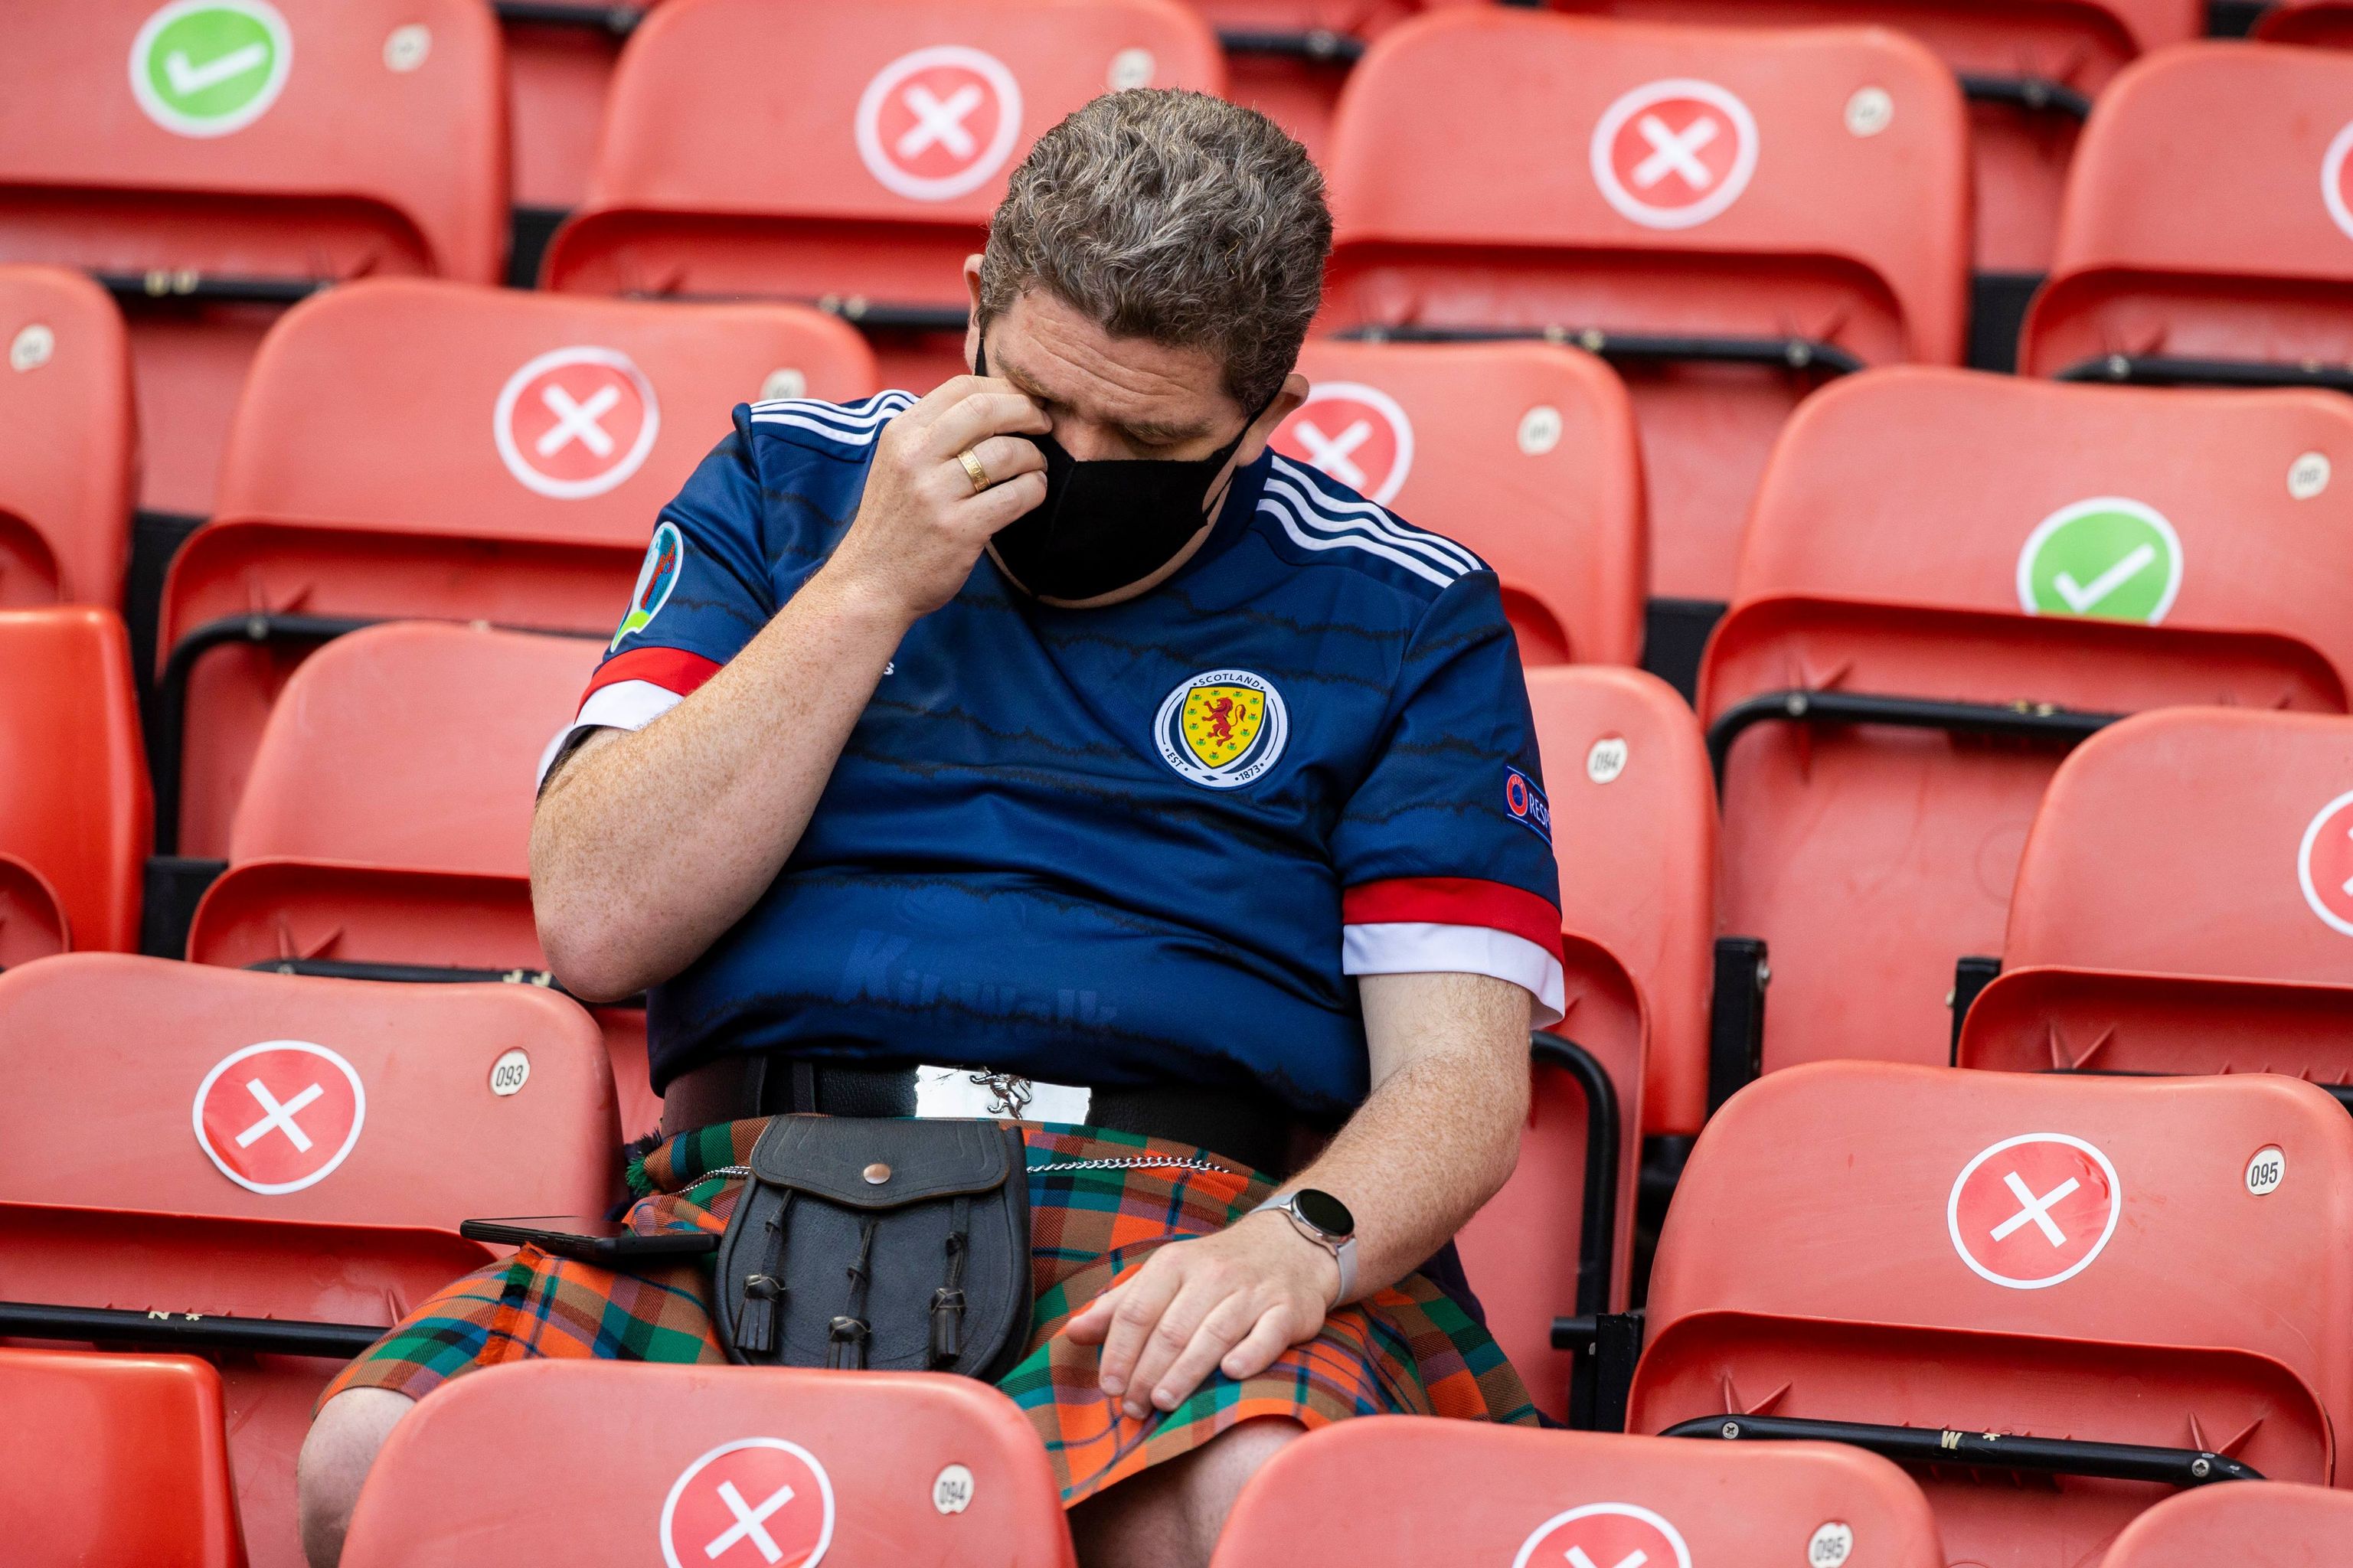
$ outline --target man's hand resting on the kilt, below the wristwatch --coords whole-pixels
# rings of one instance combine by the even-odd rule
[[[1339,1260],[1268,1210],[1172,1241],[1064,1333],[1104,1347],[1104,1394],[1144,1417],[1174,1410],[1212,1368],[1257,1377],[1315,1337],[1337,1295]]]

